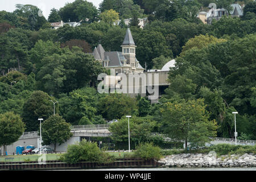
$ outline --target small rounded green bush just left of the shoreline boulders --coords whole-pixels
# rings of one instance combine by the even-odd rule
[[[159,160],[161,155],[161,149],[158,146],[154,146],[151,143],[140,143],[135,147],[134,156],[142,159],[155,159]]]

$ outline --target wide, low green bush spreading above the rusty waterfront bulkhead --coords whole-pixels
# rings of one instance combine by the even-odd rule
[[[111,163],[114,158],[101,151],[96,142],[82,140],[80,143],[68,146],[67,153],[63,155],[63,161],[69,164],[78,162]]]

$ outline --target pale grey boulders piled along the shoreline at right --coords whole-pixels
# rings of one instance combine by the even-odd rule
[[[177,154],[168,155],[158,161],[162,167],[256,167],[255,154],[216,155],[208,154]]]

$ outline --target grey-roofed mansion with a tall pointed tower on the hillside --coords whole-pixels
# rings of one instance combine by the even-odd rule
[[[143,73],[144,68],[136,59],[135,49],[137,46],[135,46],[133,36],[131,36],[130,28],[127,28],[121,47],[122,52],[106,52],[101,44],[98,44],[97,48],[95,47],[93,52],[89,54],[93,55],[97,61],[100,61],[106,69],[114,69],[115,75],[118,73]]]

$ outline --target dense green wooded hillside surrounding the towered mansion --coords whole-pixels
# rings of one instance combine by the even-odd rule
[[[224,16],[204,24],[197,13],[208,10],[211,2],[229,9],[234,1],[104,0],[97,9],[76,0],[52,9],[48,18],[33,5],[0,11],[0,114],[13,111],[26,131],[36,131],[38,118],[53,114],[52,100],[58,101],[55,113],[72,125],[122,118],[113,124],[118,127],[130,114],[133,136],[142,135],[133,142],[147,140],[151,132],[174,133],[174,127],[199,142],[200,135],[233,138],[232,111],[238,111],[238,137],[256,140],[256,2],[238,1],[245,5],[240,18]],[[138,18],[146,17],[148,23],[139,28]],[[98,44],[121,51],[128,26],[113,22],[126,18],[132,18],[129,28],[143,67],[161,68],[176,60],[159,104],[97,93],[97,76],[108,71],[86,53]],[[60,20],[81,26],[52,29],[50,23]]]

